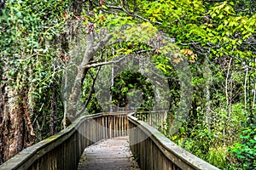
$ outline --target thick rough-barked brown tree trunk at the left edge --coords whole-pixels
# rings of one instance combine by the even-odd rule
[[[20,82],[25,76],[20,76]],[[27,88],[17,89],[15,84],[5,85],[2,90],[0,119],[1,163],[15,156],[20,150],[33,144],[34,132],[26,106]]]

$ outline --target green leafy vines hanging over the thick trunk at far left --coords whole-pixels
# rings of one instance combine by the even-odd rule
[[[55,45],[67,5],[68,1],[10,0],[0,11],[0,70],[5,77],[0,86],[7,82],[27,99],[37,140],[49,136],[50,111],[55,111],[55,132],[61,129],[62,64]],[[57,110],[51,108],[52,102]]]

